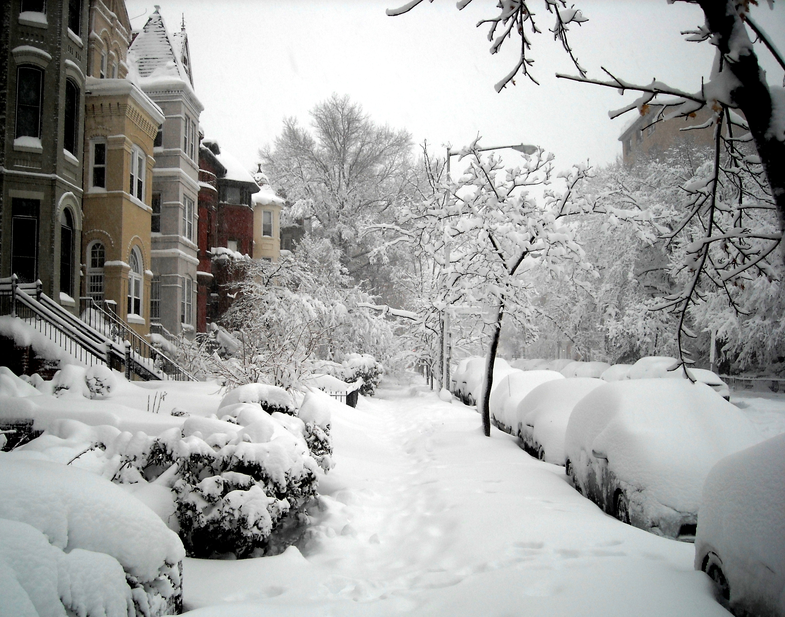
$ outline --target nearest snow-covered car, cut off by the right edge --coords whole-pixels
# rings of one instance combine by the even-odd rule
[[[703,484],[695,568],[736,615],[785,615],[785,434],[723,458]]]

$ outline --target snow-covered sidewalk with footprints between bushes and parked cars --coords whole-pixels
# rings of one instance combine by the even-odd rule
[[[479,425],[432,392],[346,407],[302,552],[187,560],[190,615],[728,615],[692,545],[606,516]]]

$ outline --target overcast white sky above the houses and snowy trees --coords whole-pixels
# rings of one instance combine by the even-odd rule
[[[483,144],[539,144],[557,155],[557,167],[590,159],[605,163],[621,152],[617,138],[629,115],[608,119],[635,95],[557,79],[574,73],[547,28],[553,18],[540,7],[534,38],[535,86],[497,94],[493,88],[515,62],[515,39],[488,53],[481,17],[495,15],[494,0],[474,0],[463,11],[455,0],[425,2],[403,16],[385,9],[404,0],[159,0],[170,31],[184,13],[195,89],[205,111],[205,134],[250,168],[257,149],[272,143],[281,121],[308,111],[330,93],[348,93],[379,123],[424,139],[458,147],[479,133]],[[754,9],[758,24],[785,48],[785,2],[772,11]],[[153,6],[126,0],[132,25],[140,28]],[[534,3],[539,6],[538,2]],[[688,43],[681,30],[703,23],[696,5],[666,0],[575,0],[590,21],[571,26],[571,44],[590,77],[601,66],[631,82],[653,77],[695,91],[708,75],[714,47]],[[769,82],[782,85],[783,71],[759,46]],[[633,112],[632,112],[633,113]]]

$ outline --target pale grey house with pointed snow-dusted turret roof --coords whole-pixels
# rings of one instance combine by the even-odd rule
[[[162,109],[153,169],[151,322],[171,334],[196,323],[199,115],[184,27],[166,29],[159,8],[133,39],[130,78]]]

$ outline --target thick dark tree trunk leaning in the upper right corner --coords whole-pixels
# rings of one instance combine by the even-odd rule
[[[730,51],[730,42],[735,28],[744,28],[732,0],[699,0],[710,31],[715,35],[717,48],[725,55]],[[727,61],[727,60],[726,60]],[[739,57],[737,62],[728,62],[728,68],[739,79],[741,86],[732,92],[733,100],[739,105],[750,126],[750,133],[761,157],[761,163],[772,189],[776,203],[780,230],[785,230],[785,143],[778,140],[769,130],[772,122],[772,97],[765,82],[765,73],[758,65],[758,57],[750,52]],[[783,244],[785,246],[785,244]],[[783,252],[785,254],[785,252]]]

